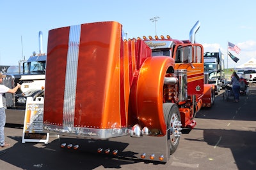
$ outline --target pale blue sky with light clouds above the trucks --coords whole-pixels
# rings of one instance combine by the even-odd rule
[[[115,20],[128,38],[170,35],[189,39],[189,31],[200,21],[196,42],[205,52],[225,55],[225,67],[236,67],[256,59],[256,1],[158,0],[158,1],[0,1],[0,65],[17,65],[39,52],[38,32],[43,32],[43,52],[47,52],[48,31],[68,25]],[[152,17],[159,17],[155,23]],[[22,41],[21,41],[22,39]],[[241,48],[236,63],[227,57],[227,42]],[[22,43],[21,43],[22,42]],[[228,60],[227,60],[228,59]]]

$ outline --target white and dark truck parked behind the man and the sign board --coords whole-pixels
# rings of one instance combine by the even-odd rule
[[[42,31],[39,32],[39,43],[42,42]],[[19,72],[5,73],[3,84],[13,89],[21,83],[15,94],[6,93],[6,123],[24,124],[26,98],[44,97],[46,54],[41,53],[42,43],[39,44],[40,53],[19,61]]]

